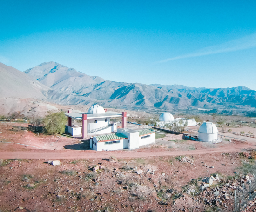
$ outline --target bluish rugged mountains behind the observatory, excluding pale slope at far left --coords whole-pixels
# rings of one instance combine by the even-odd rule
[[[256,91],[247,87],[195,88],[103,80],[55,62],[42,63],[26,74],[49,86],[48,99],[67,104],[94,104],[170,109],[256,107]],[[64,92],[64,93],[63,93]]]

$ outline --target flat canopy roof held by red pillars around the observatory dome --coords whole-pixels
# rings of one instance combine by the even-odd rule
[[[110,118],[110,117],[122,117],[122,113],[116,113],[113,111],[106,111],[105,113],[100,114],[90,114],[90,113],[65,113],[66,116],[71,117],[72,119],[81,120],[82,114],[87,114],[87,119],[96,119],[96,118]],[[129,114],[127,114],[129,116]]]

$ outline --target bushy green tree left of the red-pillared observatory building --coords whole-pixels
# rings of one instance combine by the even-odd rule
[[[46,131],[49,134],[64,133],[66,122],[67,117],[63,111],[59,113],[49,113],[43,120]]]

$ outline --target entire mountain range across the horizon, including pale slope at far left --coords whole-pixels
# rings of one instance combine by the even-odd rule
[[[30,96],[59,104],[100,104],[105,107],[166,111],[256,109],[256,91],[244,86],[196,88],[115,82],[88,76],[56,62],[42,63],[24,72],[0,63],[0,74],[0,97]]]

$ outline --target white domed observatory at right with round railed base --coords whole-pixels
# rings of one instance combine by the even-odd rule
[[[198,130],[198,140],[210,143],[219,143],[222,141],[218,138],[218,129],[212,122],[204,122]]]

